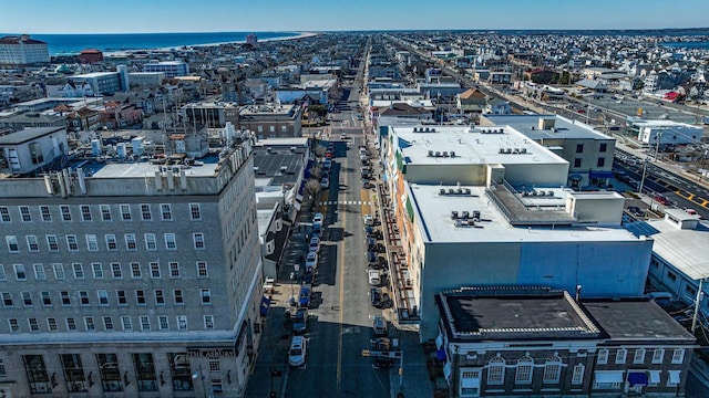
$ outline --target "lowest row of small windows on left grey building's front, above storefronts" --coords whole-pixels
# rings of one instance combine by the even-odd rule
[[[134,323],[134,321],[136,321]],[[204,315],[203,327],[205,331],[214,329],[214,315]],[[79,322],[81,318],[76,318],[74,316],[68,316],[64,318],[63,327],[60,326],[58,318],[55,317],[47,317],[44,318],[45,328],[42,329],[42,325],[40,325],[40,320],[37,317],[28,317],[27,320],[27,328],[22,328],[19,318],[8,318],[8,325],[10,327],[11,333],[27,333],[27,332],[115,332],[121,327],[123,332],[148,332],[148,331],[188,331],[187,326],[187,315],[176,315],[174,323],[171,326],[169,316],[167,315],[140,315],[136,318],[133,318],[129,315],[120,316],[116,324],[116,320],[113,316],[84,316],[83,325],[80,325]],[[80,329],[81,327],[81,329]],[[62,328],[62,331],[60,331]]]

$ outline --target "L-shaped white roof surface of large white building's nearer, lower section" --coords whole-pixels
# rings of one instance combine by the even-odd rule
[[[484,187],[470,188],[471,196],[442,196],[441,188],[455,186],[417,185],[410,186],[410,200],[414,212],[421,216],[424,237],[430,242],[627,242],[637,241],[633,233],[618,227],[513,227],[485,196]],[[564,192],[555,191],[563,198]],[[535,200],[542,200],[535,198]],[[475,227],[455,227],[451,211],[481,212],[481,222]],[[545,211],[545,210],[540,210]],[[425,239],[425,238],[424,238]]]

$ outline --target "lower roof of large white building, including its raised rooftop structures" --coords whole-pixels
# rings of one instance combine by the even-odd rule
[[[460,195],[456,193],[459,188],[462,191]],[[446,193],[441,195],[441,190],[445,190]],[[598,226],[592,220],[584,223],[566,209],[568,196],[574,196],[577,200],[623,200],[623,197],[616,192],[575,192],[561,187],[534,190],[544,192],[544,196],[516,195],[516,198],[500,199],[500,197],[492,198],[492,193],[485,187],[412,184],[408,197],[412,210],[418,213],[417,219],[424,234],[424,241],[432,243],[618,243],[645,239],[634,235],[619,223]],[[449,193],[450,191],[452,193]],[[579,198],[579,195],[584,198]],[[511,210],[514,211],[512,216],[505,216],[493,199],[504,201],[507,208],[512,208],[511,201],[517,201],[518,205]],[[476,211],[480,213],[475,213]],[[456,212],[455,218],[453,212]],[[463,222],[465,216],[467,216],[467,222]],[[619,218],[620,213],[618,213]]]

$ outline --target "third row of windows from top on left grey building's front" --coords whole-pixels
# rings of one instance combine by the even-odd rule
[[[50,265],[47,265],[50,266]],[[47,269],[44,264],[32,264],[32,270],[34,271],[34,279],[38,281],[47,280]],[[16,281],[27,281],[28,280],[28,271],[24,264],[12,264],[12,271],[14,272]],[[94,279],[104,279],[106,273],[104,272],[104,266],[102,263],[91,263],[91,273]],[[140,262],[131,262],[129,263],[130,276],[132,279],[141,279],[143,277],[144,269],[141,266]],[[163,266],[158,261],[153,261],[148,263],[147,266],[148,275],[152,279],[163,277]],[[209,270],[207,269],[206,261],[197,261],[196,262],[196,271],[197,277],[208,277]],[[66,279],[66,272],[64,270],[64,264],[62,263],[53,263],[51,264],[51,272],[54,275],[54,279],[58,281],[63,281]],[[86,272],[84,270],[84,265],[82,263],[72,263],[71,272],[73,273],[74,280],[84,280],[86,279]],[[123,266],[121,263],[110,263],[109,264],[109,274],[113,279],[123,279]],[[182,277],[182,270],[179,263],[177,261],[171,261],[167,263],[167,276],[169,277]],[[0,264],[0,281],[7,281],[8,275],[6,273],[6,269],[3,264]]]

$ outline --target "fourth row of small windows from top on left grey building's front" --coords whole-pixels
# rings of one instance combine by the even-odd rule
[[[54,303],[61,303],[62,306],[71,306],[79,304],[81,306],[91,306],[94,304],[99,304],[100,306],[109,306],[113,302],[115,305],[127,306],[129,303],[129,293],[126,290],[116,290],[115,295],[110,294],[107,290],[97,290],[95,291],[95,295],[90,293],[89,291],[60,291],[59,297],[52,296],[51,292],[41,291],[39,292],[39,300],[37,293],[22,291],[19,293],[19,303],[23,307],[33,307],[34,305],[41,305],[44,307],[53,306]],[[202,305],[210,305],[212,304],[212,291],[209,289],[198,289],[199,293],[199,302]],[[147,305],[147,297],[144,290],[135,290],[133,291],[134,303],[135,305]],[[95,298],[92,298],[95,297]],[[16,302],[18,296],[13,296],[10,292],[0,292],[0,297],[2,298],[2,306],[6,308],[11,308],[16,306]],[[55,301],[58,300],[58,301]],[[95,301],[94,301],[95,300]],[[185,294],[182,289],[173,290],[173,304],[175,305],[185,305]],[[155,305],[165,305],[167,297],[166,292],[162,289],[157,289],[153,291],[153,301]]]

